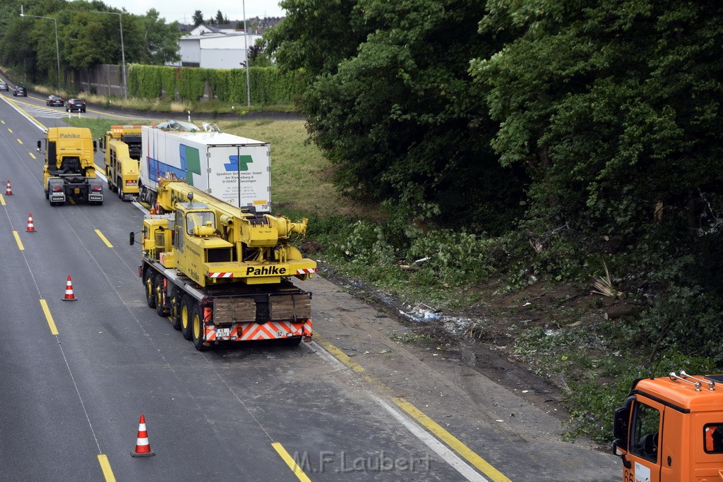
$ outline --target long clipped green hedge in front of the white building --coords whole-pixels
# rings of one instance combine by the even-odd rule
[[[306,85],[300,72],[282,73],[274,66],[251,67],[249,81],[252,104],[262,106],[291,103]],[[242,104],[246,101],[246,71],[140,64],[128,68],[128,92],[137,98],[197,102],[206,87],[216,100]]]

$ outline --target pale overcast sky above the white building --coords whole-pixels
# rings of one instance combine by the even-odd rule
[[[278,0],[206,0],[206,1],[169,1],[169,0],[104,0],[103,3],[125,8],[126,12],[142,15],[149,9],[156,9],[166,22],[178,20],[181,23],[193,23],[193,14],[200,10],[203,18],[215,17],[221,10],[228,20],[244,20],[244,3],[246,17],[283,17],[285,11],[278,6]]]

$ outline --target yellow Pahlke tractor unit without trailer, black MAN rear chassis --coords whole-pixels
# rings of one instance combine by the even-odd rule
[[[103,181],[95,175],[93,154],[97,148],[86,127],[51,127],[38,139],[44,149],[43,190],[51,206],[85,200],[103,204]]]

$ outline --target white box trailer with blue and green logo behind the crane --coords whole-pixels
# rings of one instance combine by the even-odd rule
[[[236,207],[271,210],[268,142],[182,121],[142,126],[139,197],[155,205],[159,178],[177,178]]]

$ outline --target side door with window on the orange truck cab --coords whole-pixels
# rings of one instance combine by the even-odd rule
[[[625,482],[660,482],[660,458],[664,443],[664,407],[647,398],[638,397],[630,417],[628,460]]]

